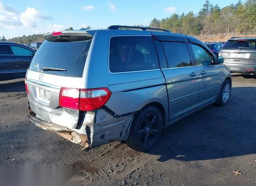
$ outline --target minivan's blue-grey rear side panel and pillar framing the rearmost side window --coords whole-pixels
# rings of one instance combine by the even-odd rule
[[[134,32],[127,33],[133,34],[125,34],[126,36],[134,36]],[[138,33],[141,34],[136,34],[136,36],[145,36],[145,33],[148,32]],[[118,30],[95,32],[85,63],[82,78],[83,88],[108,87],[112,95],[106,103],[106,107],[117,115],[139,111],[152,102],[162,104],[165,112],[168,113],[166,81],[160,69],[132,73],[110,73],[108,69],[109,40],[111,36],[118,35],[120,36]],[[146,36],[151,37],[151,33],[149,32]]]

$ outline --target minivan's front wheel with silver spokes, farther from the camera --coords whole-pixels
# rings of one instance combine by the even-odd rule
[[[218,106],[227,105],[228,100],[230,98],[231,86],[232,86],[231,82],[228,79],[225,79],[220,89],[220,94],[219,94],[218,100],[216,101],[216,105]]]

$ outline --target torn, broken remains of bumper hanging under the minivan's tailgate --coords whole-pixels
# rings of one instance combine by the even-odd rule
[[[56,125],[54,123],[49,123],[46,121],[42,121],[40,119],[37,119],[33,116],[28,116],[30,121],[36,125],[36,127],[39,127],[41,129],[52,131],[57,133],[58,135],[70,140],[71,142],[74,142],[76,144],[80,144],[82,146],[82,150],[90,150],[90,143],[88,140],[88,137],[86,135],[79,134],[75,131],[72,131],[66,127],[62,127],[60,125]]]

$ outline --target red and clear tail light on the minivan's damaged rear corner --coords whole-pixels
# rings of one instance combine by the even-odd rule
[[[69,109],[92,111],[105,105],[110,96],[111,92],[107,88],[70,89],[62,87],[59,105]]]

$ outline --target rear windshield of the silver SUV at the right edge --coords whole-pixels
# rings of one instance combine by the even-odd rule
[[[256,40],[228,40],[222,49],[256,49]]]

